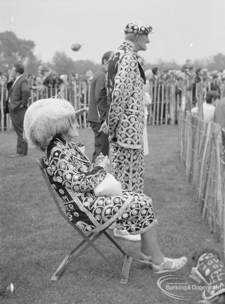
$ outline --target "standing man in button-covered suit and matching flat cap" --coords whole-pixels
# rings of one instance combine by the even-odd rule
[[[106,67],[105,125],[111,141],[112,174],[123,189],[143,193],[146,78],[137,52],[146,50],[152,27],[134,20],[127,24],[124,32],[125,42]]]

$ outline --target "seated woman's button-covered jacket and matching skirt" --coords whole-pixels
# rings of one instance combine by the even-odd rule
[[[93,232],[115,221],[129,234],[154,227],[157,220],[147,195],[123,191],[123,196],[95,196],[93,189],[104,179],[108,167],[103,163],[93,167],[84,151],[82,143],[59,136],[51,140],[44,153],[49,181],[61,197],[68,218],[80,229]]]

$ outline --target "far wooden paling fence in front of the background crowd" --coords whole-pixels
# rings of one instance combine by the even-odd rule
[[[195,96],[196,100],[201,101],[202,84],[197,84],[195,92],[193,94],[193,88],[190,90],[186,89],[186,85],[183,85],[182,92],[176,94],[176,84],[174,82],[164,83],[155,81],[150,82],[149,94],[152,99],[152,104],[148,106],[148,125],[174,125],[178,120],[178,113],[180,109],[191,109],[192,101]],[[208,88],[210,89],[210,88]],[[61,94],[66,99],[69,100],[75,109],[86,108],[88,109],[90,86],[87,86],[84,81],[79,81],[73,85],[67,86],[63,85]],[[225,95],[225,90],[221,84],[221,92]],[[1,125],[4,130],[4,100],[7,98],[7,90],[1,87]],[[49,98],[55,96],[57,91],[55,88],[32,88],[30,91],[29,105],[36,100],[42,98]],[[223,97],[221,93],[221,97]],[[12,123],[9,115],[5,117],[7,120],[6,129],[12,130]],[[80,127],[86,128],[89,124],[86,122],[86,113],[79,116]]]

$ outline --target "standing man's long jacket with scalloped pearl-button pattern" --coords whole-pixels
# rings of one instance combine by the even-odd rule
[[[137,53],[129,43],[122,43],[106,67],[106,125],[122,147],[143,146],[145,83]]]

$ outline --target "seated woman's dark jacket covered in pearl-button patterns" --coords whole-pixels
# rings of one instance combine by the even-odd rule
[[[52,139],[44,153],[50,183],[62,198],[69,219],[82,228],[88,220],[87,215],[95,223],[90,212],[90,206],[96,200],[93,189],[108,172],[105,164],[92,168],[84,151],[81,143],[58,137]]]

